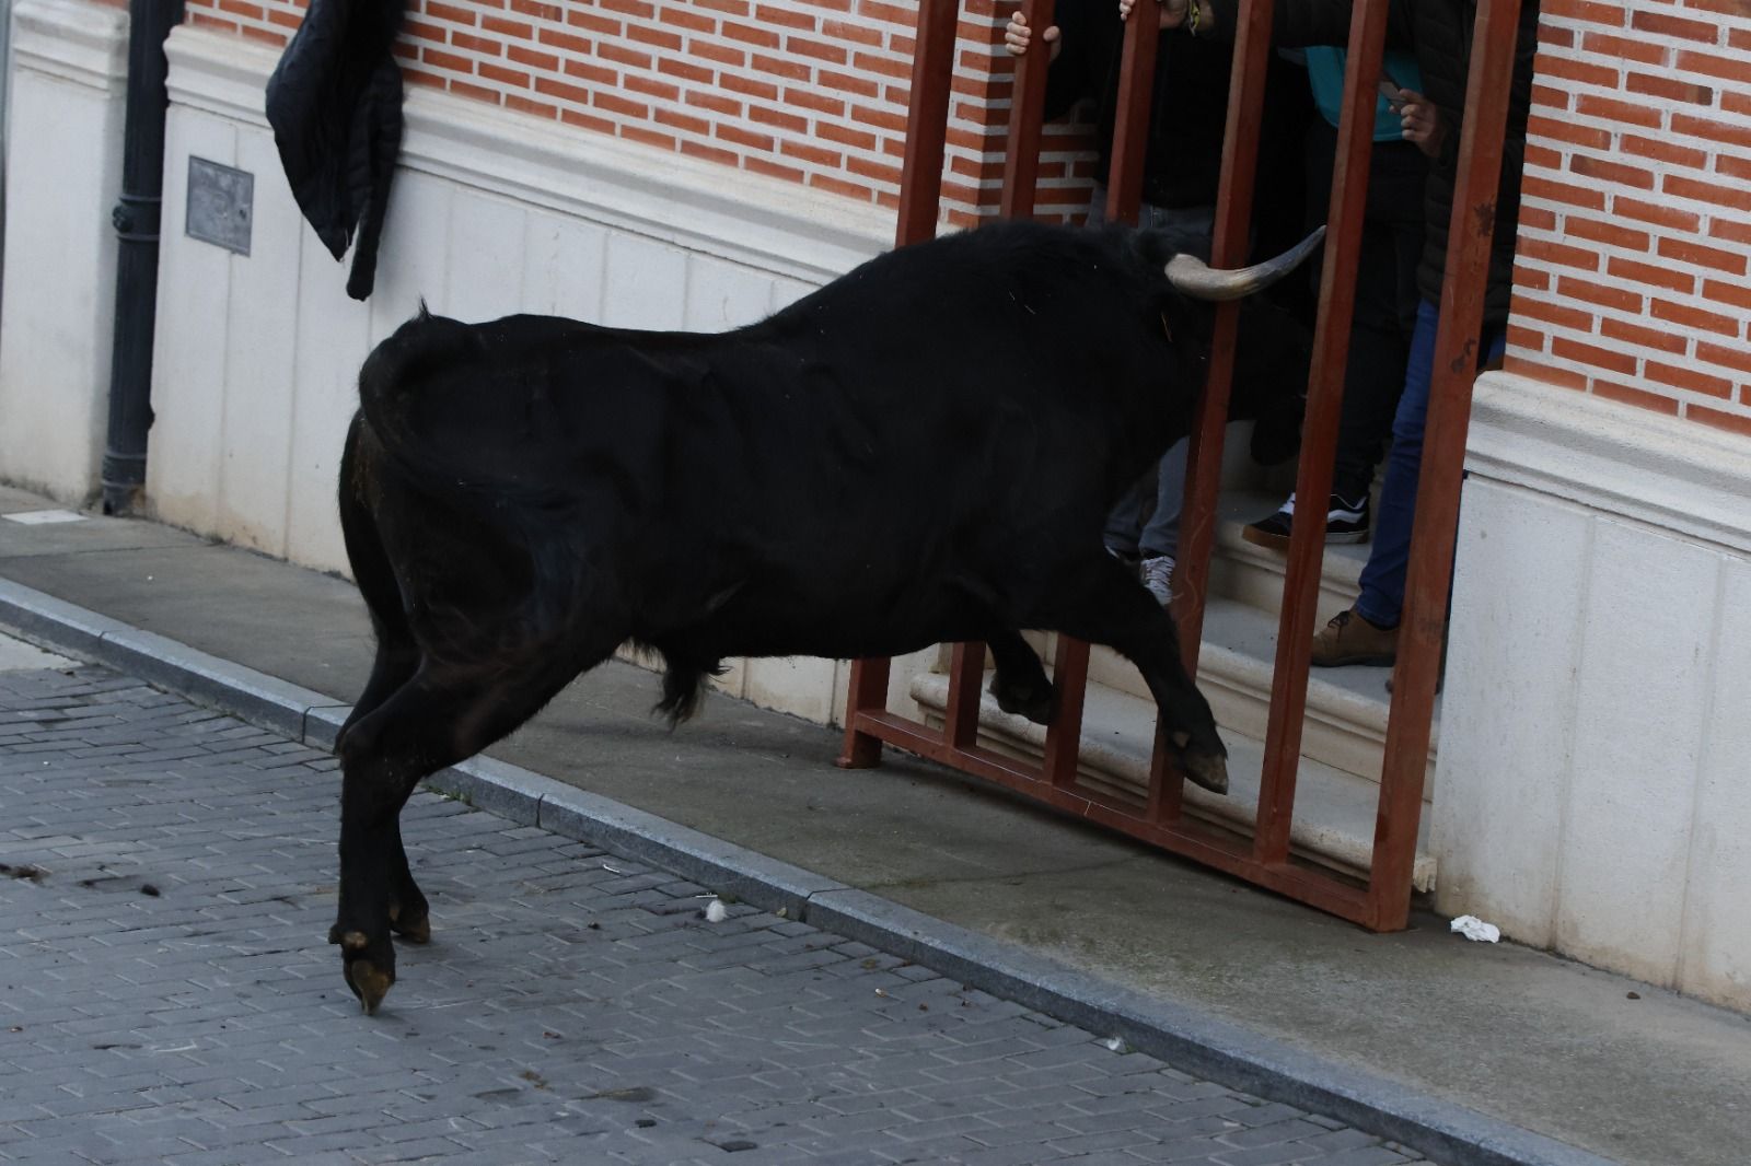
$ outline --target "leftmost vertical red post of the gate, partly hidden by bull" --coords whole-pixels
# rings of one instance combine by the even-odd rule
[[[954,26],[960,0],[921,0],[918,47],[912,56],[905,161],[900,168],[900,215],[895,245],[935,236],[942,207],[942,154],[949,133],[949,82],[954,75]],[[867,769],[881,760],[881,741],[858,728],[863,713],[888,707],[886,658],[854,660],[846,700],[846,744],[840,769]]]

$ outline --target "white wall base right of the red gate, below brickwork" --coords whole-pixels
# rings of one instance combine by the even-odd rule
[[[1478,383],[1438,905],[1751,1010],[1751,441]]]

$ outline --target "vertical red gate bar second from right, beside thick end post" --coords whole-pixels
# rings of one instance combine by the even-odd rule
[[[1308,413],[1301,424],[1301,466],[1296,497],[1303,513],[1324,513],[1331,494],[1343,378],[1355,317],[1355,256],[1368,210],[1368,165],[1375,145],[1382,58],[1387,46],[1387,0],[1359,0],[1350,18],[1348,70],[1343,79],[1343,116],[1333,170],[1331,210],[1326,215],[1326,263],[1320,271],[1319,320],[1313,331],[1313,373]],[[1308,667],[1319,583],[1326,564],[1326,527],[1297,522],[1289,537],[1283,604],[1276,625],[1276,671],[1271,674],[1271,714],[1264,730],[1264,774],[1259,779],[1259,821],[1254,854],[1259,861],[1289,858],[1289,826],[1301,770],[1301,728],[1306,718]]]

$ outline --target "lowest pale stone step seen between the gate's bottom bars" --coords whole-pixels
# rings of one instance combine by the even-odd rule
[[[942,725],[947,693],[949,678],[940,672],[919,674],[911,685],[919,716],[935,727]],[[1154,732],[1152,702],[1105,685],[1089,685],[1082,713],[1080,783],[1140,802],[1149,784]],[[1222,742],[1229,751],[1229,793],[1217,797],[1187,783],[1185,805],[1192,814],[1250,835],[1257,819],[1264,748],[1257,737],[1233,728],[1222,728]],[[1045,746],[1045,728],[1003,713],[991,695],[984,693],[979,704],[979,744],[1038,762]],[[1378,795],[1380,786],[1375,781],[1303,758],[1296,779],[1290,847],[1333,870],[1366,874],[1373,853]],[[1429,819],[1431,814],[1425,812],[1417,835],[1417,863],[1411,875],[1417,891],[1434,888]]]

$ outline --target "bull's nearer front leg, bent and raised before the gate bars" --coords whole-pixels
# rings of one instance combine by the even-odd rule
[[[1180,662],[1173,618],[1103,551],[1079,560],[1061,583],[1051,608],[1038,613],[1042,627],[1107,644],[1131,660],[1156,699],[1156,714],[1180,772],[1205,790],[1227,793],[1227,748],[1215,730],[1210,702]]]

